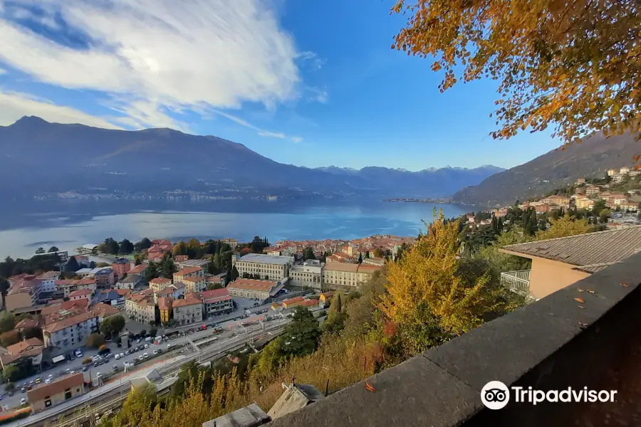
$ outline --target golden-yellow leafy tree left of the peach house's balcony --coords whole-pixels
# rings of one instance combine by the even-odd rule
[[[486,312],[499,308],[487,273],[473,279],[457,274],[458,231],[458,221],[444,223],[442,212],[434,211],[427,233],[387,265],[387,293],[379,307],[405,331],[403,346],[410,353],[478,327]]]

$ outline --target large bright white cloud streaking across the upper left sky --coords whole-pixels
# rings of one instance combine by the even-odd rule
[[[43,8],[41,20],[59,13],[90,43],[62,46],[0,16],[0,61],[44,83],[115,95],[122,123],[184,129],[167,112],[273,107],[301,90],[301,54],[263,0],[14,3]]]

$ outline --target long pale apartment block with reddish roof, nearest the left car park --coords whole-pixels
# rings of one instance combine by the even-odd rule
[[[51,354],[65,354],[83,347],[93,332],[98,331],[98,316],[93,312],[62,317],[43,327],[44,345]]]

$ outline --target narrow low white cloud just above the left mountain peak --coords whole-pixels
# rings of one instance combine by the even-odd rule
[[[8,126],[26,115],[36,115],[56,123],[79,123],[105,129],[122,129],[108,120],[88,115],[75,108],[56,105],[24,93],[8,92],[0,88],[0,126]]]

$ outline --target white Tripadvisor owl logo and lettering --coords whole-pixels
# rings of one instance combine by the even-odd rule
[[[540,404],[542,402],[550,403],[569,403],[569,402],[614,402],[616,401],[616,390],[588,390],[573,389],[568,387],[563,390],[535,390],[532,387],[512,386],[508,388],[501,381],[489,381],[481,389],[481,401],[488,409],[504,408],[510,401],[510,396],[516,403]]]

